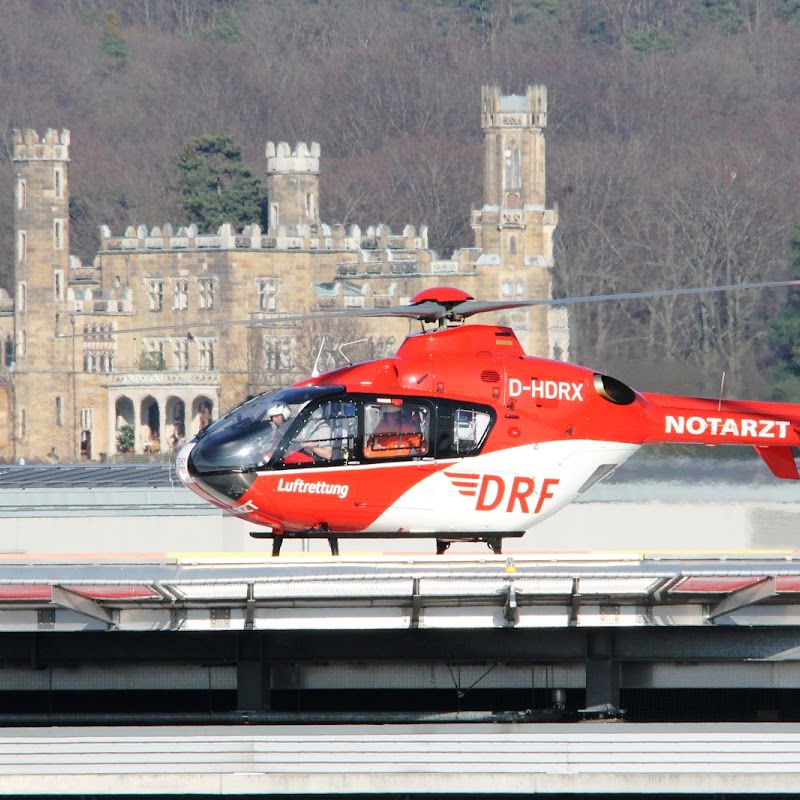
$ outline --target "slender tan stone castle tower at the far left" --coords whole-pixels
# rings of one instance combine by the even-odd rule
[[[49,129],[39,137],[34,130],[15,130],[13,146],[15,452],[44,458],[56,447],[60,458],[68,458],[73,450],[73,340],[55,334],[68,327],[63,312],[69,271],[69,131]]]

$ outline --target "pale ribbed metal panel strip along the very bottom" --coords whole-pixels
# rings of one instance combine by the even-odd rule
[[[6,731],[13,794],[790,794],[788,725],[398,725]]]

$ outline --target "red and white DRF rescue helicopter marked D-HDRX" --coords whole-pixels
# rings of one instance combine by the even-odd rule
[[[192,491],[287,537],[484,541],[495,553],[575,500],[642,445],[753,445],[800,479],[800,405],[638,392],[527,356],[514,332],[460,325],[484,311],[793,286],[800,281],[521,302],[428,289],[407,306],[354,312],[436,325],[396,355],[251,397],[178,454]],[[352,314],[353,312],[350,312]],[[333,316],[332,314],[328,316]],[[253,534],[258,535],[258,534]]]

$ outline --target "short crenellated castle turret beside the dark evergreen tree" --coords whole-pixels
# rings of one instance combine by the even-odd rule
[[[269,232],[319,222],[319,143],[267,142]]]

